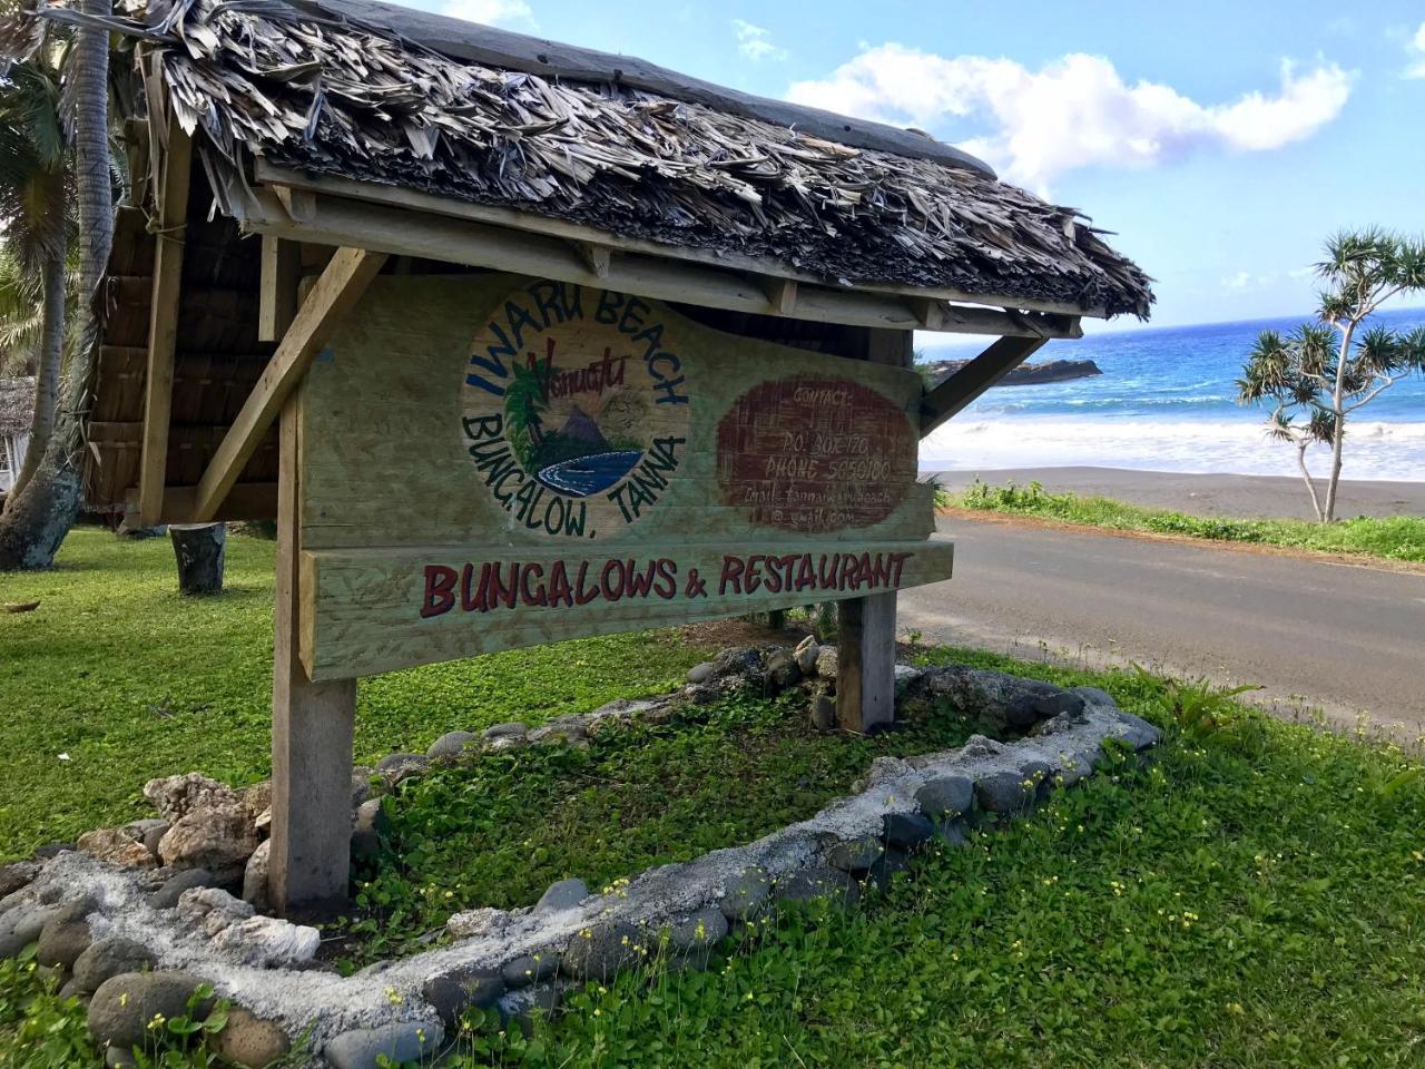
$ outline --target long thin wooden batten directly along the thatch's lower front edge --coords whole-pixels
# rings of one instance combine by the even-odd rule
[[[265,160],[254,162],[258,181],[271,182],[274,188],[288,187],[291,190],[308,190],[316,194],[335,197],[349,197],[369,204],[383,204],[398,208],[409,208],[429,215],[445,215],[456,220],[470,220],[496,227],[526,231],[532,234],[547,234],[573,242],[589,242],[606,245],[623,252],[643,252],[665,259],[681,259],[708,267],[750,271],[760,275],[777,275],[797,282],[824,285],[825,279],[809,271],[802,271],[792,264],[761,257],[748,257],[728,249],[704,249],[683,245],[665,245],[644,238],[630,238],[613,231],[598,229],[581,222],[569,222],[546,215],[500,208],[489,204],[470,204],[452,197],[405,190],[396,185],[382,185],[379,182],[361,182],[351,178],[318,177],[289,171],[275,167]],[[972,294],[953,286],[912,286],[895,282],[858,282],[856,289],[862,292],[898,294],[909,296],[933,296],[940,301],[959,301],[968,304],[989,305],[992,308],[1022,308],[1032,312],[1059,312],[1063,315],[1089,315],[1104,318],[1103,308],[1080,308],[1072,301],[1037,301],[1026,296],[1009,296],[1007,294]]]

